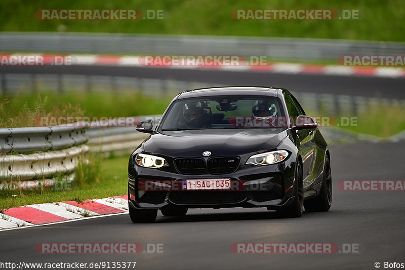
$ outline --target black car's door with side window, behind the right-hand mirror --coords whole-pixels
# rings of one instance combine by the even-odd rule
[[[293,125],[299,115],[305,115],[305,112],[301,109],[301,106],[295,100],[292,95],[285,95],[287,109]],[[313,182],[311,174],[313,172],[314,158],[316,157],[316,145],[314,142],[315,128],[312,129],[300,129],[293,131],[297,135],[297,147],[300,149],[302,156],[304,189]]]

